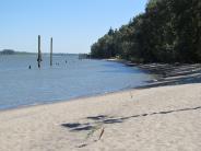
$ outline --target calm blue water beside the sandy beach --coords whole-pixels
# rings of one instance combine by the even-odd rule
[[[35,55],[0,56],[0,109],[115,92],[152,79],[138,68],[117,62],[54,56],[50,68],[49,57],[43,57],[39,70]]]

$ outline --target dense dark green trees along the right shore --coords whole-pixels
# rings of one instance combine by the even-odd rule
[[[149,0],[144,13],[93,44],[91,57],[201,62],[201,0]]]

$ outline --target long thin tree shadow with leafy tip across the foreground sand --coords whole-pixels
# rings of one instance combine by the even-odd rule
[[[154,113],[144,113],[144,114],[132,115],[127,117],[98,115],[98,116],[86,117],[86,119],[90,120],[90,123],[83,123],[83,124],[69,123],[69,124],[62,124],[61,126],[68,128],[70,131],[88,131],[88,130],[93,130],[97,126],[97,124],[100,124],[100,125],[121,124],[132,118],[143,118],[143,117],[149,117],[154,115],[167,115],[172,113],[181,113],[181,112],[197,111],[197,109],[201,109],[201,106],[173,109],[173,111],[154,112]]]

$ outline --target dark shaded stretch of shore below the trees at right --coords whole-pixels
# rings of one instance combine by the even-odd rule
[[[180,65],[180,63],[149,63],[133,65],[144,70],[145,72],[156,76],[155,80],[146,81],[149,84],[141,86],[156,88],[165,85],[179,85],[190,83],[201,83],[201,65]]]

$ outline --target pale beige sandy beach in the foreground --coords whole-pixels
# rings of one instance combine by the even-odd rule
[[[200,151],[201,84],[4,111],[0,123],[0,151]]]

